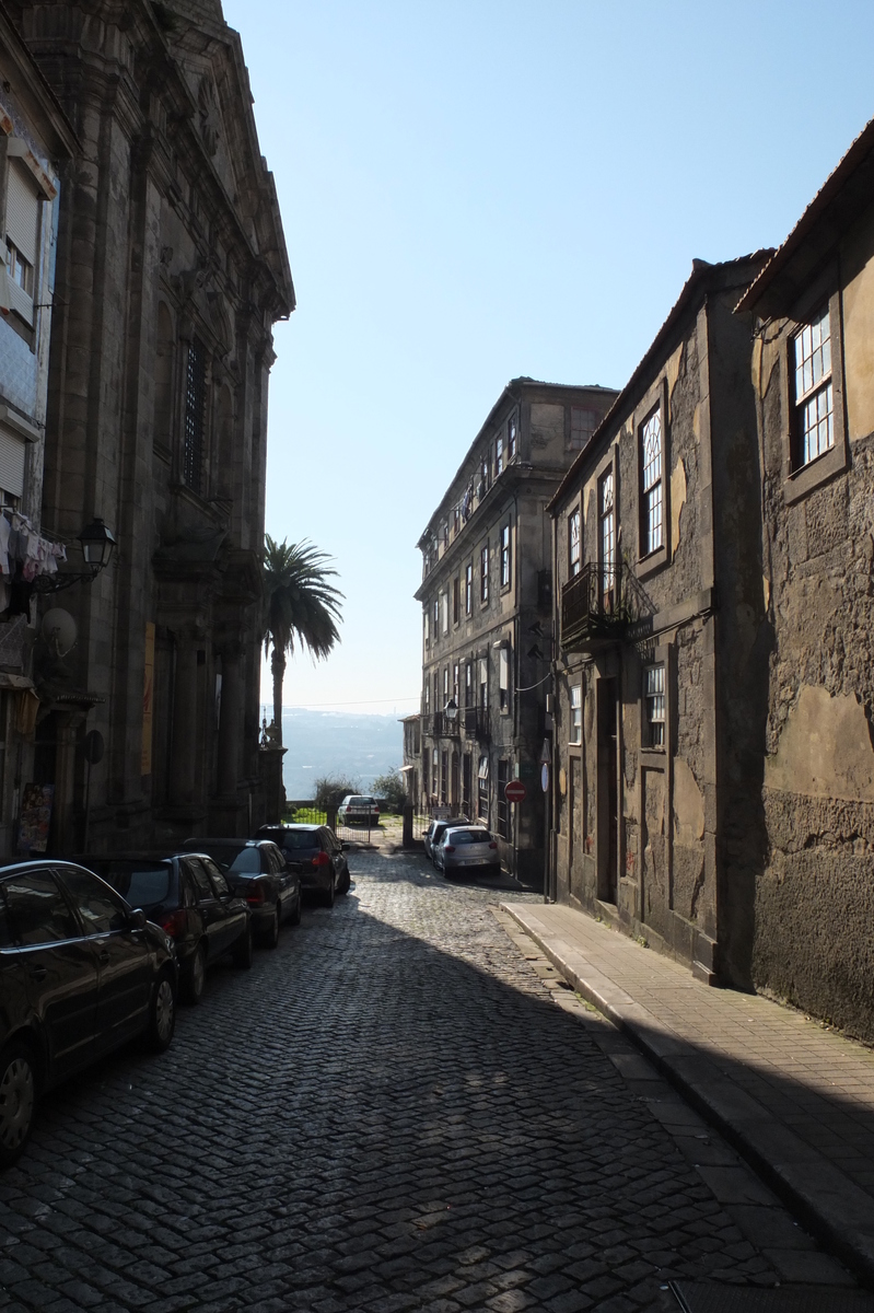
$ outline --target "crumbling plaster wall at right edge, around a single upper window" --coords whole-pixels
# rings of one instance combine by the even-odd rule
[[[845,243],[849,469],[787,504],[783,370],[794,323],[761,352],[766,848],[751,962],[759,987],[874,1040],[874,226]],[[835,331],[835,330],[833,330]]]

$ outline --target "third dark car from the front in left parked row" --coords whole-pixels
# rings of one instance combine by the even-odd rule
[[[276,948],[285,920],[301,924],[301,877],[270,839],[186,839],[189,852],[206,852],[231,889],[245,898],[259,943]]]

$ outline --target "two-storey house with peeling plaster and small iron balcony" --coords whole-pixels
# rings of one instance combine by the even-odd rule
[[[765,259],[696,261],[550,506],[549,892],[707,981],[738,976],[748,932],[734,688],[761,571],[752,345],[734,307]]]

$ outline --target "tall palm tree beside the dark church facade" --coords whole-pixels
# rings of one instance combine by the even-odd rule
[[[264,654],[273,649],[273,723],[282,743],[286,653],[294,655],[295,645],[307,649],[314,660],[331,653],[340,642],[343,593],[327,583],[337,572],[328,567],[331,557],[306,538],[274,542],[268,533],[264,544]]]

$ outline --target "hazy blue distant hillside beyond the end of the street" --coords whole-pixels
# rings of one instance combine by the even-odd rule
[[[285,792],[311,798],[320,775],[343,772],[370,789],[378,775],[403,765],[403,726],[396,716],[348,712],[282,712]]]

